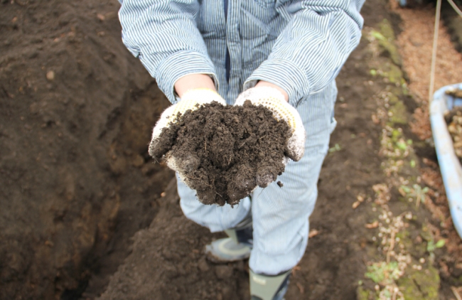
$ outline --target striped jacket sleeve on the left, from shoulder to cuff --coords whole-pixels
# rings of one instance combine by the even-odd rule
[[[122,41],[141,60],[168,100],[176,103],[173,85],[184,75],[208,74],[215,68],[195,18],[197,0],[119,0]]]

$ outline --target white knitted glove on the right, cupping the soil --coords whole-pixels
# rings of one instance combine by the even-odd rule
[[[263,105],[271,110],[276,119],[284,119],[292,129],[292,136],[287,141],[289,159],[299,161],[305,151],[305,127],[299,112],[289,105],[284,99],[284,95],[274,87],[252,87],[242,92],[235,102],[235,105],[244,105],[246,100],[250,100],[253,105]],[[288,159],[284,160],[284,164]]]

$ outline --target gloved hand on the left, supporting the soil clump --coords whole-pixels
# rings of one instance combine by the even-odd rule
[[[162,143],[159,140],[159,136],[161,135],[161,132],[164,128],[168,128],[169,124],[178,121],[178,114],[184,114],[188,110],[198,109],[200,106],[211,103],[213,101],[216,101],[221,105],[226,105],[225,100],[223,100],[223,98],[214,90],[205,88],[188,90],[183,94],[180,102],[172,105],[171,107],[168,107],[163,111],[159,121],[156,123],[156,126],[152,131],[151,143],[149,144],[149,155],[160,159],[162,154],[166,153],[165,158],[167,166],[173,171],[178,171],[178,175],[181,179],[183,179],[183,181],[186,182],[186,184],[188,184],[188,181],[186,176],[184,176],[183,171],[187,171],[188,169],[193,168],[193,165],[200,164],[200,161],[194,161],[194,159],[185,159],[179,161],[175,157],[171,156],[170,151],[168,151],[171,145],[163,144],[163,146],[167,147],[168,149],[162,148]]]

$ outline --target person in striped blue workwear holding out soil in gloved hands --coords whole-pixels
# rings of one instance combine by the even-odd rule
[[[119,1],[122,41],[173,104],[154,137],[177,112],[242,97],[276,110],[284,102],[293,109],[289,117],[303,122],[304,155],[278,177],[284,188],[258,187],[233,208],[204,205],[177,173],[186,217],[230,236],[208,245],[209,257],[249,258],[252,299],[282,299],[306,250],[336,124],[335,77],[360,41],[365,0]]]

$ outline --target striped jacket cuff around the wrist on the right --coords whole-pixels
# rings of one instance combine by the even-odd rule
[[[254,87],[259,80],[273,83],[285,90],[289,95],[289,104],[294,107],[310,92],[308,77],[290,60],[264,60],[257,70],[254,70],[254,73],[245,80],[243,90]]]

